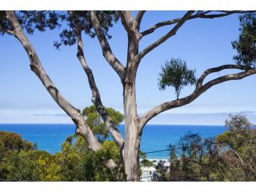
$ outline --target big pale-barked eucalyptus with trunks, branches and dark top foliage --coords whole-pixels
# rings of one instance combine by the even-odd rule
[[[138,181],[138,160],[139,160],[139,148],[142,138],[142,130],[147,122],[156,115],[161,114],[163,111],[174,109],[179,106],[184,106],[193,102],[210,87],[218,85],[219,83],[238,80],[245,78],[249,75],[256,74],[255,58],[250,56],[249,62],[244,58],[247,58],[248,53],[254,52],[243,50],[251,46],[255,46],[255,36],[247,35],[246,38],[250,39],[250,45],[241,43],[242,33],[244,33],[244,26],[241,28],[241,35],[238,41],[234,42],[234,48],[238,50],[237,64],[228,64],[222,66],[216,66],[205,70],[201,76],[199,76],[195,83],[195,89],[192,94],[184,97],[177,98],[174,101],[164,102],[153,109],[147,111],[142,116],[138,115],[137,102],[136,102],[136,74],[142,58],[149,54],[156,47],[162,45],[167,39],[174,37],[178,30],[186,24],[186,22],[196,18],[222,18],[230,14],[242,14],[249,12],[248,15],[254,13],[250,11],[186,11],[181,18],[168,19],[163,22],[158,22],[149,29],[141,30],[141,22],[143,15],[146,11],[138,11],[133,17],[130,11],[67,11],[64,14],[59,14],[54,11],[1,11],[0,12],[0,30],[1,34],[13,35],[22,44],[26,50],[26,54],[30,59],[31,70],[38,76],[46,90],[54,98],[54,101],[58,103],[58,106],[62,108],[73,120],[77,126],[76,134],[82,135],[88,142],[88,146],[91,150],[101,150],[102,146],[100,142],[94,137],[94,133],[90,129],[90,126],[86,123],[80,110],[71,105],[70,102],[64,98],[58,88],[51,81],[48,74],[42,67],[42,63],[39,56],[31,44],[29,38],[27,38],[24,30],[27,33],[32,34],[35,29],[44,31],[46,28],[50,30],[61,25],[62,22],[67,22],[69,30],[63,30],[60,34],[61,41],[55,42],[55,46],[62,45],[74,45],[78,46],[78,60],[82,65],[83,70],[86,73],[90,90],[92,92],[91,101],[94,103],[98,114],[101,115],[107,129],[110,131],[114,142],[118,146],[122,158],[122,166],[125,168],[127,179],[130,181]],[[127,47],[127,60],[126,63],[121,63],[118,57],[112,52],[108,38],[110,34],[108,30],[113,26],[114,22],[121,19],[122,26],[126,30],[128,37]],[[241,18],[242,20],[243,18]],[[254,23],[248,22],[251,19],[246,19],[246,26],[251,26]],[[163,26],[170,26],[170,30],[163,34],[161,38],[158,38],[154,42],[149,42],[149,45],[144,49],[140,49],[139,43],[147,35],[153,34],[154,31],[161,29]],[[250,27],[249,27],[250,28]],[[251,31],[249,30],[249,33]],[[94,81],[93,71],[90,70],[89,64],[86,62],[86,56],[83,50],[82,34],[90,35],[90,37],[98,38],[98,42],[102,48],[102,54],[106,61],[110,64],[113,70],[118,74],[123,87],[123,108],[124,108],[124,122],[125,122],[125,138],[122,138],[118,128],[115,126],[110,115],[106,111],[106,107],[103,106],[98,90],[97,84]],[[248,40],[246,39],[246,40]],[[246,42],[242,40],[242,42]],[[242,46],[245,44],[245,46]],[[242,50],[240,50],[242,47]],[[245,62],[246,61],[246,62]],[[205,82],[205,78],[209,74],[218,73],[222,70],[241,70],[238,73],[222,75],[219,78],[214,78],[209,82]],[[105,165],[114,168],[114,161],[110,160],[105,162]]]

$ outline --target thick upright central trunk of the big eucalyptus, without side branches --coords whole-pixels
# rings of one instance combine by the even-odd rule
[[[123,101],[125,116],[124,159],[127,180],[139,181],[139,147],[141,134],[136,103],[136,73],[138,69],[138,37],[128,34],[128,50],[126,72],[123,78]]]

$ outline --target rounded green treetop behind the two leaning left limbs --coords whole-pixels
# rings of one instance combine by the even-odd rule
[[[123,115],[112,108],[106,108],[106,112],[110,115],[110,118],[114,122],[115,126],[123,120]],[[93,130],[94,135],[99,142],[106,141],[109,138],[109,130],[107,130],[105,123],[102,121],[101,116],[98,114],[95,106],[86,107],[82,110],[82,114],[86,116],[86,123]]]

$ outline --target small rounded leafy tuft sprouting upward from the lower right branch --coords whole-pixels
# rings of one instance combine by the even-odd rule
[[[197,81],[195,70],[188,69],[186,62],[180,58],[171,58],[161,70],[158,78],[159,89],[166,90],[167,86],[173,86],[177,99],[184,86],[192,86]]]

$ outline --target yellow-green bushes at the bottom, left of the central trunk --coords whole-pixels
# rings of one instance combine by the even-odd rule
[[[125,181],[121,166],[109,170],[104,163],[113,159],[121,164],[118,147],[113,141],[102,142],[102,150],[88,149],[81,136],[69,136],[62,143],[62,151],[49,154],[42,150],[28,149],[22,145],[18,134],[1,132],[0,178],[37,181]],[[21,139],[18,145],[5,142],[7,138]],[[11,140],[14,142],[14,140]],[[8,145],[8,146],[6,146]],[[5,151],[9,150],[8,153]],[[4,152],[4,153],[3,153]]]

